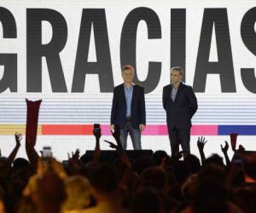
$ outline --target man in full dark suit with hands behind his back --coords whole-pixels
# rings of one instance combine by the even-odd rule
[[[166,110],[166,123],[171,143],[172,155],[181,145],[185,153],[190,153],[191,118],[197,110],[197,100],[193,89],[182,83],[183,70],[173,67],[171,84],[163,89],[163,107]]]

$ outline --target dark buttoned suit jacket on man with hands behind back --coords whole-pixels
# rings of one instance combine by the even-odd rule
[[[171,130],[191,127],[191,118],[197,110],[197,100],[193,89],[180,83],[175,100],[171,98],[172,85],[163,88],[163,107],[166,110],[167,125]]]

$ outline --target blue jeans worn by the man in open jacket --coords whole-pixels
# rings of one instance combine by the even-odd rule
[[[142,145],[141,145],[141,130],[139,129],[134,129],[131,126],[131,122],[128,121],[125,124],[125,128],[120,130],[120,140],[121,140],[121,144],[124,150],[126,150],[127,147],[127,136],[129,135],[131,136],[131,142],[132,142],[132,146],[135,150],[138,149],[142,149]]]

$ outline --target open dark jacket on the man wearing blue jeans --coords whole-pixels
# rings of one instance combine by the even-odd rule
[[[113,103],[111,110],[111,124],[119,125],[120,129],[126,123],[126,100],[124,83],[113,89]],[[139,129],[139,124],[146,124],[144,89],[141,86],[133,85],[131,98],[131,125]]]

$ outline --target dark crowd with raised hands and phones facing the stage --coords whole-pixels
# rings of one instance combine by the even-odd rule
[[[156,151],[129,158],[118,128],[112,141],[94,131],[92,158],[76,150],[67,164],[35,150],[40,103],[27,101],[26,158],[15,158],[22,135],[8,157],[0,158],[0,213],[253,213],[256,212],[256,154],[234,141],[219,147],[224,155],[205,157],[207,141],[199,137],[200,158]],[[30,106],[30,107],[29,107]],[[29,128],[29,129],[28,129]],[[101,143],[117,153],[102,160]],[[234,157],[227,152],[230,145]],[[235,146],[236,147],[236,146]]]

